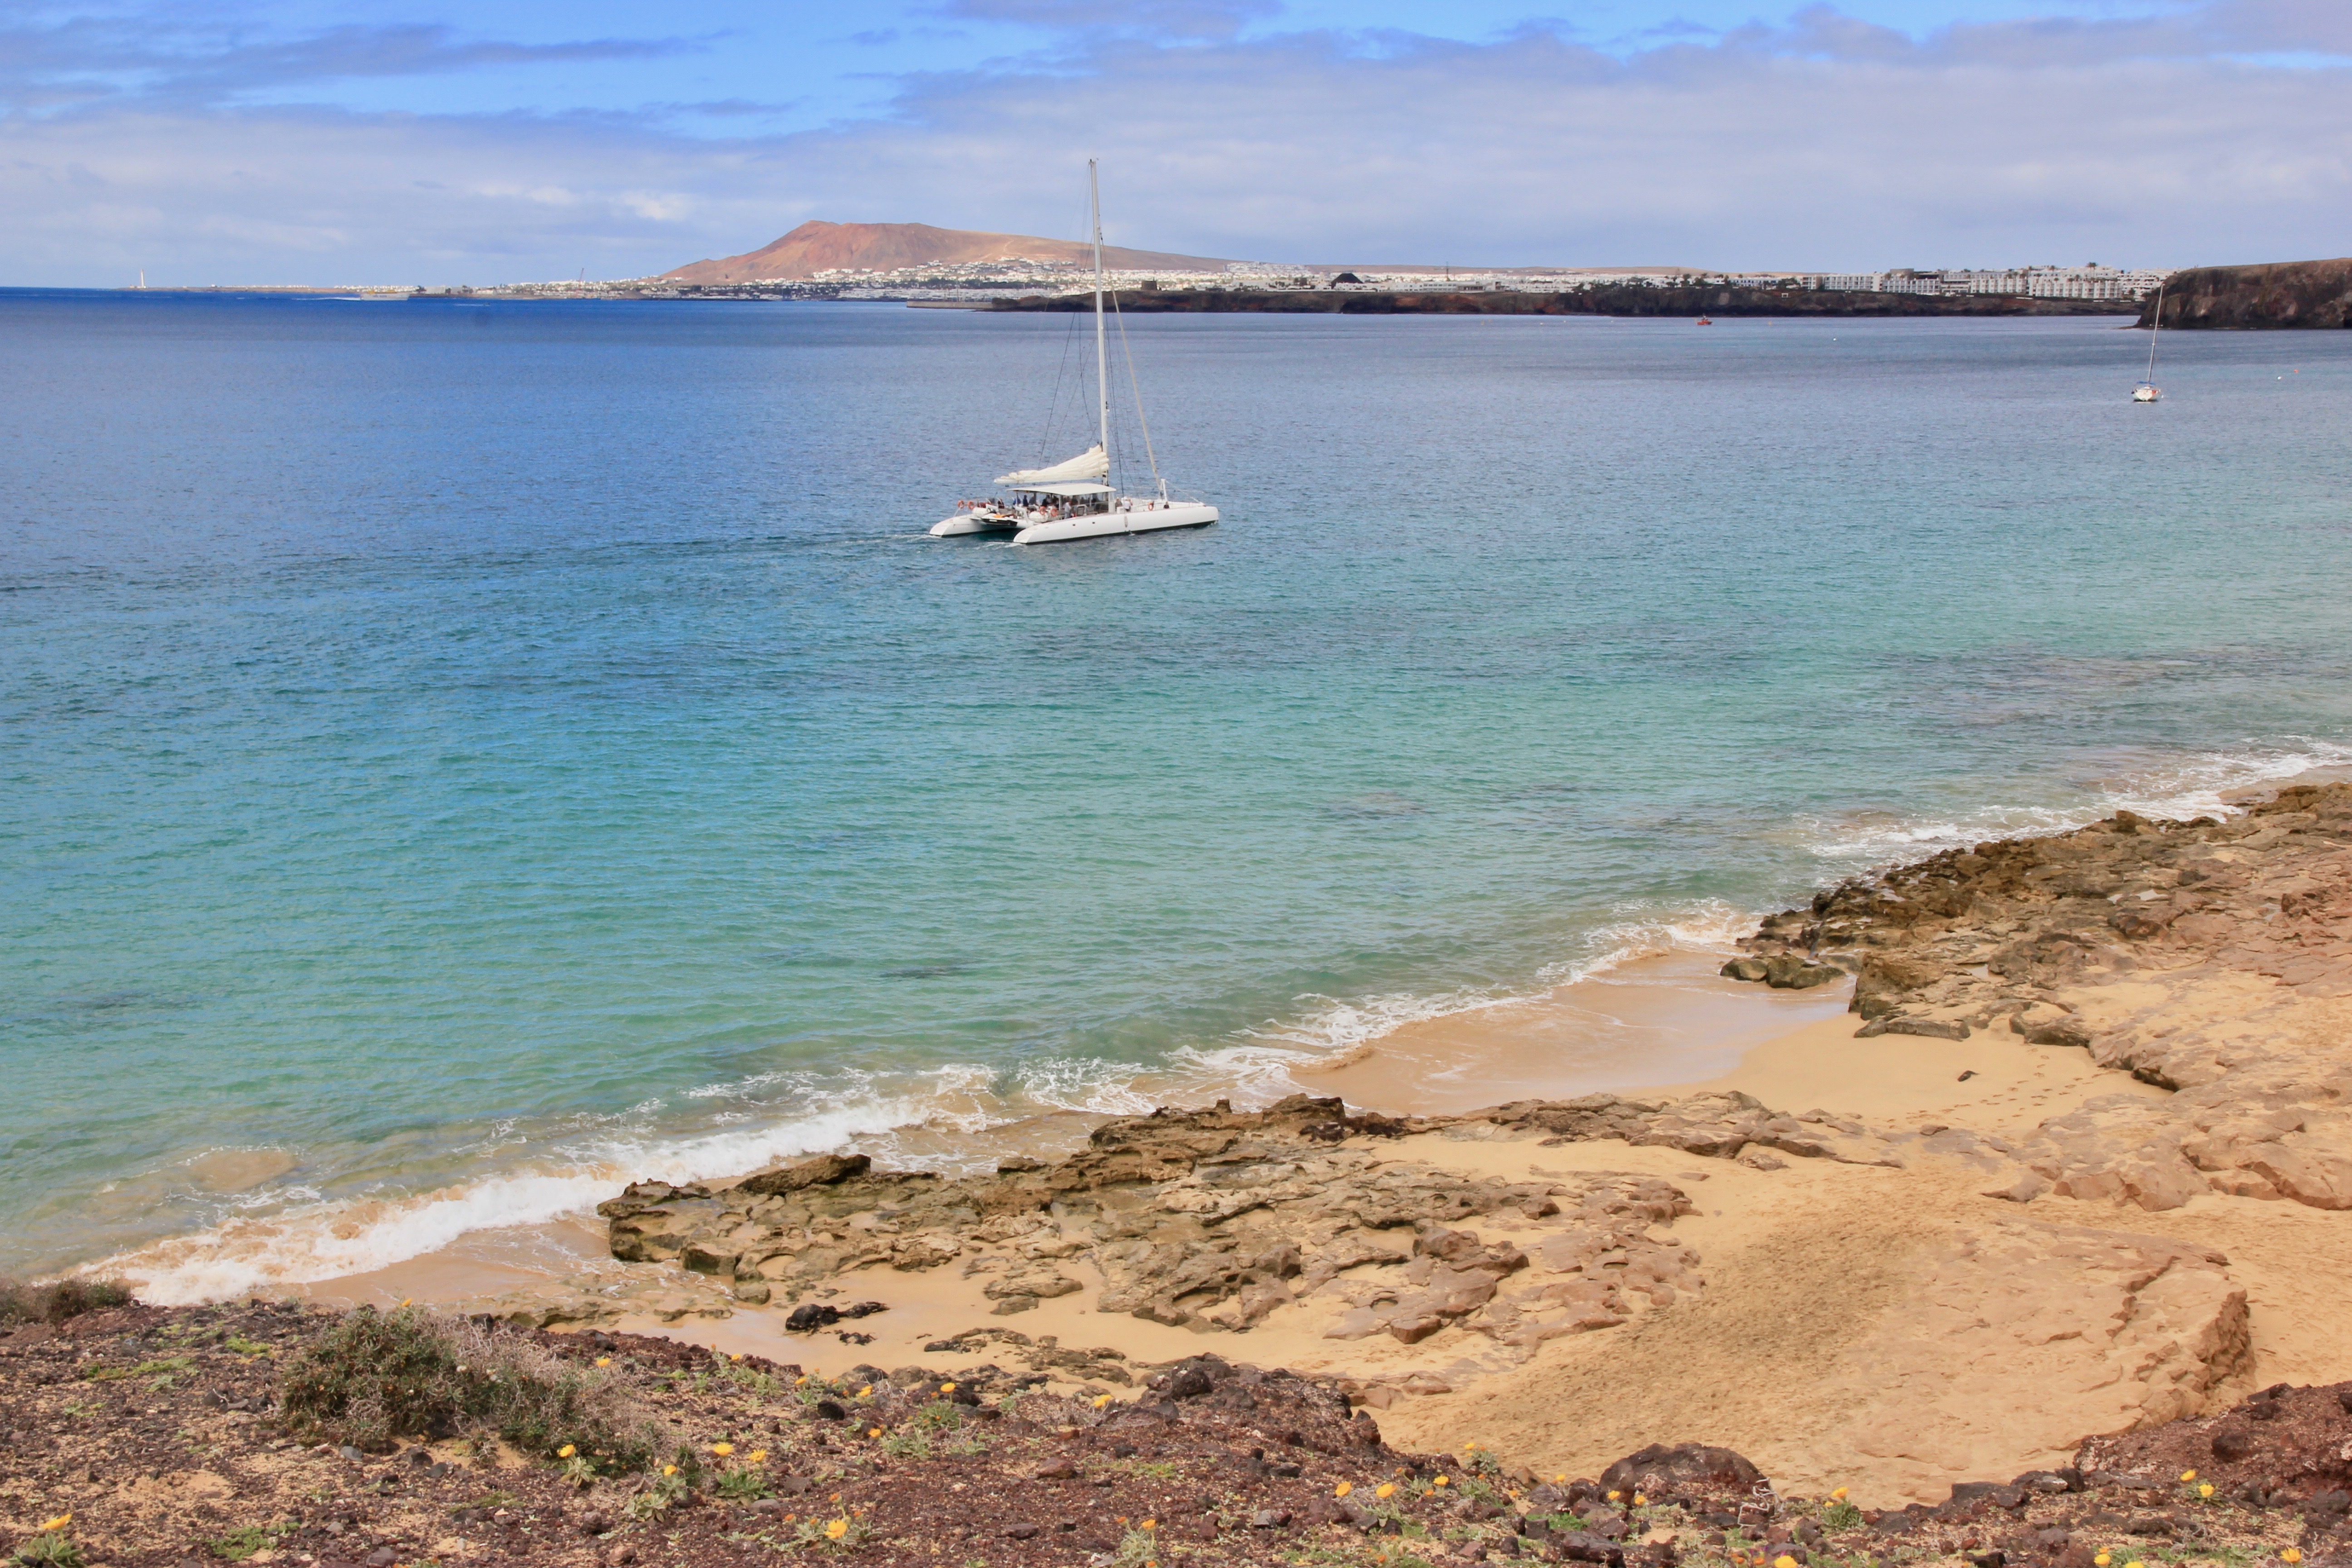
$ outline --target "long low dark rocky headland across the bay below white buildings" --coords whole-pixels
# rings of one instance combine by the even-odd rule
[[[1120,292],[1134,313],[1275,313],[1275,315],[2126,315],[2131,306],[2096,299],[2011,299],[2002,294],[1853,294],[1842,289],[1658,289],[1613,284],[1534,294],[1383,292],[1383,289],[1141,289]],[[993,310],[1091,310],[1094,294],[1028,294]]]

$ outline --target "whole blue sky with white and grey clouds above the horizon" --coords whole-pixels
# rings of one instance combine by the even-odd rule
[[[2352,252],[2352,0],[0,0],[0,287]]]

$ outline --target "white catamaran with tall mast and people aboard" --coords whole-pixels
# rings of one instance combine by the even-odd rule
[[[1152,489],[1145,494],[1122,494],[1110,484],[1110,343],[1103,336],[1103,188],[1094,160],[1087,160],[1087,205],[1094,228],[1094,404],[1098,435],[1065,463],[1051,468],[1018,468],[997,475],[997,484],[1014,494],[1011,501],[969,503],[955,517],[931,524],[934,538],[957,534],[1011,534],[1016,545],[1054,545],[1073,538],[1103,538],[1105,534],[1150,534],[1155,529],[1204,529],[1216,522],[1216,508],[1204,501],[1178,501],[1169,496],[1167,480],[1160,477],[1160,458],[1152,451],[1152,428],[1143,418],[1141,397],[1136,402],[1136,425],[1143,430],[1143,461],[1152,470]],[[1127,331],[1120,331],[1124,346]],[[1127,376],[1134,381],[1134,357]]]

